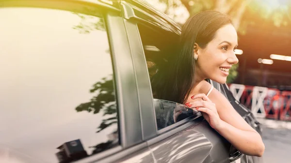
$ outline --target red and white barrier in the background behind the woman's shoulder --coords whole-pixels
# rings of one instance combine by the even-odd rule
[[[260,118],[291,120],[291,91],[230,84],[236,100]]]

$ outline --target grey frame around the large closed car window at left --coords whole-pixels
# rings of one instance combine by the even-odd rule
[[[140,113],[138,108],[138,99],[137,99],[137,88],[133,87],[128,83],[130,80],[133,85],[136,85],[134,69],[131,62],[129,43],[127,40],[127,33],[124,27],[123,18],[120,16],[121,10],[113,7],[112,5],[102,3],[101,1],[88,2],[85,0],[0,0],[0,8],[8,7],[32,7],[40,9],[59,9],[63,11],[71,11],[72,6],[80,8],[74,12],[82,12],[81,7],[88,7],[92,9],[101,9],[100,13],[94,16],[101,16],[105,23],[105,29],[108,36],[108,42],[110,46],[110,55],[112,59],[113,66],[113,84],[115,89],[116,96],[116,105],[118,109],[118,132],[119,132],[119,145],[108,150],[102,151],[95,155],[92,155],[87,158],[75,161],[75,163],[91,163],[91,162],[102,162],[109,163],[116,161],[126,154],[132,153],[132,146],[140,144],[139,147],[145,148],[146,144],[142,143],[142,131],[140,124]],[[105,11],[104,11],[105,9]],[[91,13],[92,15],[92,13]],[[116,27],[120,27],[116,29]],[[118,34],[121,33],[121,36]],[[127,66],[124,64],[124,60],[129,59]],[[125,89],[125,88],[131,89]],[[131,103],[131,101],[136,101],[136,103]],[[130,103],[129,103],[130,102]],[[125,109],[126,108],[126,109]],[[132,121],[131,117],[136,117]],[[132,125],[134,124],[134,125]],[[129,136],[132,135],[132,136]],[[116,153],[120,153],[117,154]],[[110,159],[108,159],[109,156]],[[106,161],[107,160],[107,161]]]

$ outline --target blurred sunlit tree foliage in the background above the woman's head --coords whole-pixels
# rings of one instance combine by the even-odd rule
[[[201,11],[215,10],[230,15],[234,27],[242,34],[247,25],[256,23],[251,17],[272,20],[274,26],[287,26],[291,19],[291,2],[282,0],[159,0],[165,4],[163,12],[170,17],[177,8],[185,7],[190,16]],[[179,12],[180,14],[181,12]]]

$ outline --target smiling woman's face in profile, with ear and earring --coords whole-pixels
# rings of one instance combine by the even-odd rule
[[[198,55],[195,64],[195,76],[199,79],[209,78],[218,83],[226,83],[228,71],[238,63],[234,50],[238,46],[237,32],[231,24],[216,31],[214,39],[202,49],[195,44],[194,54]]]

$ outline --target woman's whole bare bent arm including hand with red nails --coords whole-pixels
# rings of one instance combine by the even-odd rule
[[[261,157],[264,152],[262,139],[236,112],[226,97],[213,89],[209,98],[204,94],[192,97],[191,108],[202,112],[210,126],[226,138],[235,148],[247,155]]]

